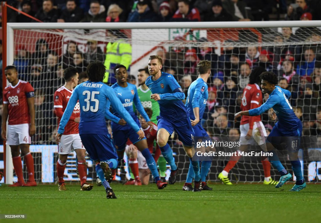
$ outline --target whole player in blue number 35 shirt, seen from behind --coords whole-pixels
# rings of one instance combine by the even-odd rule
[[[135,129],[139,138],[144,137],[144,132],[124,109],[115,95],[114,90],[105,85],[105,66],[101,62],[90,63],[87,67],[89,80],[79,84],[69,99],[65,112],[60,120],[56,140],[61,141],[65,126],[70,119],[74,107],[79,100],[80,122],[79,134],[90,158],[96,163],[96,173],[106,190],[106,197],[116,198],[108,180],[111,180],[111,169],[117,168],[117,153],[108,134],[105,117],[107,99],[113,108],[123,115],[124,119]]]

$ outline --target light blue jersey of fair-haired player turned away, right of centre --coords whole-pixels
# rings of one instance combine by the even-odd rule
[[[208,88],[207,84],[204,82],[202,78],[197,78],[189,86],[185,107],[187,108],[187,112],[191,120],[195,120],[193,109],[196,107],[199,108],[200,120],[203,118],[203,114],[205,111],[207,98],[208,98],[207,88]]]

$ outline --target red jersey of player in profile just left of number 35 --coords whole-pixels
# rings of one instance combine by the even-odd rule
[[[69,98],[73,92],[71,90],[68,90],[65,86],[62,86],[56,90],[55,95],[54,95],[54,108],[56,109],[56,115],[57,115],[57,109],[62,109],[64,112],[67,103],[69,101]],[[75,118],[80,117],[80,105],[79,102],[76,103],[74,107],[74,111],[71,114],[71,117],[69,121],[67,122],[67,125],[65,127],[65,132],[64,135],[71,135],[71,134],[77,134],[79,133],[79,123],[74,122]],[[58,128],[59,128],[59,123],[61,120],[61,116],[57,115],[58,118]]]

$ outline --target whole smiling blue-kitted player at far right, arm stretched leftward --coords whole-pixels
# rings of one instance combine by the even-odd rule
[[[257,116],[273,108],[278,118],[275,126],[272,128],[270,135],[266,139],[267,152],[272,152],[269,160],[274,168],[281,174],[279,183],[276,188],[281,187],[286,181],[292,178],[292,175],[283,167],[280,159],[274,150],[276,146],[285,143],[289,151],[289,158],[292,164],[292,170],[296,176],[296,183],[290,191],[300,191],[306,188],[306,183],[302,176],[301,163],[298,159],[300,148],[300,136],[302,136],[302,124],[296,117],[289,102],[291,92],[279,86],[278,78],[273,72],[263,72],[260,75],[262,93],[268,93],[269,98],[260,107],[248,111],[240,111],[235,114],[235,121],[241,115]]]

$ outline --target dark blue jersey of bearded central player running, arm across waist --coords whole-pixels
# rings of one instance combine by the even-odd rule
[[[185,94],[173,75],[161,72],[160,78],[154,81],[152,76],[149,76],[145,84],[152,94],[160,95],[158,103],[160,105],[161,117],[172,122],[189,117],[186,107],[182,102]]]

